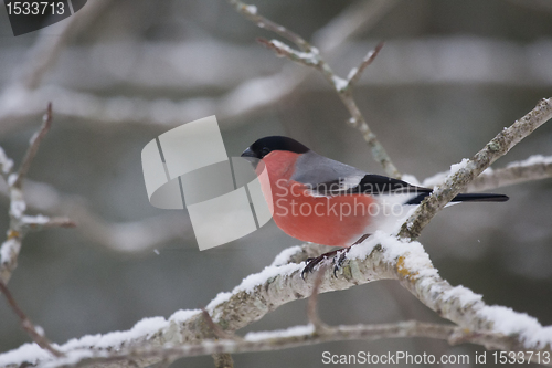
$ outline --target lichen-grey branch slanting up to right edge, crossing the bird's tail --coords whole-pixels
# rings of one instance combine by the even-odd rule
[[[463,191],[499,157],[506,155],[521,139],[546,123],[551,117],[552,98],[543,98],[526,116],[513,123],[509,128],[500,132],[470,160],[460,164],[459,169],[456,172],[452,172],[445,180],[445,183],[435,189],[402,225],[399,236],[410,239],[420,236],[422,230],[446,203]]]

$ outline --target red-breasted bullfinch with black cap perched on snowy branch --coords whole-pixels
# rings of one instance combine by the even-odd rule
[[[318,244],[348,248],[376,230],[396,232],[432,192],[320,156],[288,137],[261,138],[242,157],[264,164],[256,170],[278,228]],[[267,176],[261,175],[265,168]],[[467,193],[456,196],[453,202],[507,200],[502,194]],[[308,263],[308,271],[312,266]]]

